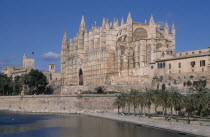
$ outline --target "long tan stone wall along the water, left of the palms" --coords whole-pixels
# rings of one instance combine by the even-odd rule
[[[0,109],[22,112],[112,112],[115,95],[1,96]]]

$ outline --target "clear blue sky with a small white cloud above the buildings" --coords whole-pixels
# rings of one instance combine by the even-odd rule
[[[127,18],[176,27],[177,52],[210,47],[209,0],[0,0],[0,69],[22,65],[22,56],[35,58],[36,68],[60,67],[64,31],[72,38],[84,15],[88,29],[102,18]],[[35,52],[32,55],[32,51]]]

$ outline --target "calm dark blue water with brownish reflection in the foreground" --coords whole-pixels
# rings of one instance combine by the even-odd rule
[[[0,112],[0,137],[190,137],[85,115]]]

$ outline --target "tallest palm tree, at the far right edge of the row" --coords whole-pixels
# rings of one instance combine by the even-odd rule
[[[200,113],[200,117],[202,118],[202,112],[206,108],[208,108],[208,92],[209,89],[205,88],[203,83],[199,82],[197,86],[191,89],[192,93],[195,96],[195,101],[198,106],[198,111]]]

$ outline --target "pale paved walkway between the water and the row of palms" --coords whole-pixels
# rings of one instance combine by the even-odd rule
[[[210,137],[210,127],[209,126],[200,126],[200,125],[191,125],[191,124],[183,124],[178,122],[170,122],[165,120],[156,120],[149,118],[140,118],[137,116],[123,116],[117,115],[116,113],[84,113],[90,116],[96,116],[101,118],[107,118],[112,120],[118,120],[123,122],[141,124],[145,126],[162,128],[167,130],[173,130],[177,132],[184,132],[194,135],[200,135],[205,137]]]

